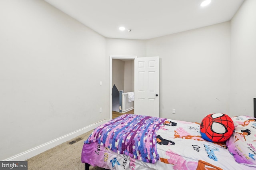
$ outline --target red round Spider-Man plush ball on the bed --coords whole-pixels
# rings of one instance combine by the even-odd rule
[[[232,136],[234,123],[223,113],[213,113],[206,116],[200,125],[202,138],[210,142],[225,142]]]

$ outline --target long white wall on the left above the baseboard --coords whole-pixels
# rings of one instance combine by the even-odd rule
[[[42,0],[0,23],[0,160],[109,118],[106,38]]]

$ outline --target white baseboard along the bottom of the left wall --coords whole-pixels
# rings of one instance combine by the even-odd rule
[[[106,123],[108,122],[109,119],[106,119],[106,120],[103,120],[103,121],[100,121],[100,122],[97,122],[97,123],[94,123],[92,125],[89,125],[87,127],[84,127],[84,128],[81,128],[79,130],[76,130],[74,132],[71,132],[69,134],[66,134],[64,136],[61,136],[60,138],[56,138],[50,142],[47,142],[45,144],[42,144],[40,146],[36,146],[35,148],[32,148],[30,150],[27,150],[25,152],[22,152],[20,154],[17,154],[15,156],[12,156],[6,160],[3,160],[3,161],[24,161],[24,160],[27,160],[29,158],[32,158],[33,156],[36,156],[46,150],[49,150],[59,144],[62,144],[64,142],[67,142],[68,140],[71,140],[72,138],[75,138],[81,134],[84,134],[100,125],[102,125],[103,123]]]

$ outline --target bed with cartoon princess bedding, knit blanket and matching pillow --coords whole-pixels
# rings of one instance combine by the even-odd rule
[[[231,119],[232,136],[226,142],[209,142],[201,136],[201,123],[122,115],[94,129],[84,141],[81,161],[85,169],[256,169],[256,118]]]

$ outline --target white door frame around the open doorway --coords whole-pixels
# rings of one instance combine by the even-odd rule
[[[110,55],[109,56],[109,119],[112,120],[112,59],[135,59],[135,55]]]

